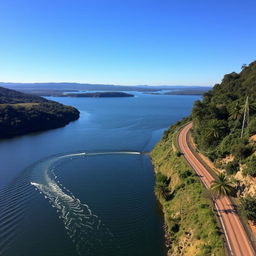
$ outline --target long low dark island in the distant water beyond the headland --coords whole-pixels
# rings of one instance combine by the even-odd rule
[[[133,94],[125,92],[86,92],[86,93],[65,93],[59,95],[61,97],[77,97],[77,98],[119,98],[119,97],[134,97]]]

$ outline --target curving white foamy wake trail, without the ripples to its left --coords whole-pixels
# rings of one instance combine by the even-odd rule
[[[62,220],[68,236],[73,241],[79,255],[100,255],[104,248],[115,247],[113,234],[93,214],[88,205],[80,202],[71,191],[66,189],[54,173],[62,160],[74,157],[87,157],[112,154],[140,154],[140,152],[96,152],[72,153],[48,158],[36,164],[32,170],[30,184],[47,198]],[[115,251],[116,252],[116,251]]]

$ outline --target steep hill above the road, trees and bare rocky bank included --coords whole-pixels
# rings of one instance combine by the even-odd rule
[[[196,101],[192,121],[197,148],[233,183],[240,212],[256,237],[256,61],[225,75]]]

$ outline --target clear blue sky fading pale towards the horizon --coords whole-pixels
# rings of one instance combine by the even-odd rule
[[[256,0],[1,0],[0,81],[213,85],[256,60]]]

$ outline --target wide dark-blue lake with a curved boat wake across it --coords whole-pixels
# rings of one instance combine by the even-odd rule
[[[135,95],[48,97],[80,119],[0,141],[0,255],[165,255],[144,153],[200,97]]]

